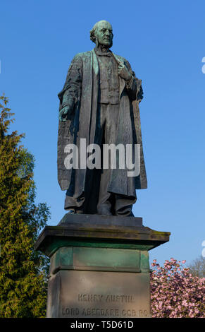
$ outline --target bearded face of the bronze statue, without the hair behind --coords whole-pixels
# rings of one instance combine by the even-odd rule
[[[95,31],[95,35],[99,42],[99,45],[104,45],[107,47],[111,47],[113,44],[113,28],[112,25],[106,20],[99,22],[97,26],[97,30]]]

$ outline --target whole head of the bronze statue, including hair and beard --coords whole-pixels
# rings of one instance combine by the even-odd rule
[[[113,45],[113,28],[111,23],[106,20],[99,20],[95,23],[90,31],[90,39],[97,46],[103,45],[105,47],[112,47]]]

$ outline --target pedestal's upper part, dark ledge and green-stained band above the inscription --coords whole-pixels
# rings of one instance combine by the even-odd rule
[[[147,274],[148,251],[169,235],[142,226],[142,218],[66,214],[58,226],[44,228],[36,249],[51,258],[50,275],[65,270]]]

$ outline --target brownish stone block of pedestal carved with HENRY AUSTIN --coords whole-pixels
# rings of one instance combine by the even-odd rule
[[[59,271],[49,280],[47,317],[149,316],[149,273]]]

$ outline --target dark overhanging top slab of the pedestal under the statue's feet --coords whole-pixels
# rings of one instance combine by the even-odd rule
[[[112,215],[71,215],[58,226],[46,226],[35,249],[52,256],[59,247],[105,247],[149,250],[169,240],[169,232],[142,225],[142,218]]]

